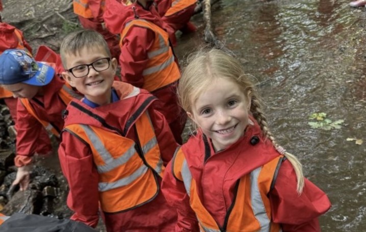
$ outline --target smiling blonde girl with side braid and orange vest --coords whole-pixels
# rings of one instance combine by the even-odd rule
[[[330,202],[274,140],[236,59],[220,50],[199,53],[178,94],[198,130],[163,179],[178,212],[175,231],[320,231],[317,217]]]

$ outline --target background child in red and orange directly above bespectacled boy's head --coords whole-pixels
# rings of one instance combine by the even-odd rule
[[[104,26],[103,13],[106,8],[105,0],[73,0],[74,13],[86,29],[95,30],[107,41],[112,57],[119,57],[121,50],[116,35],[110,33]]]

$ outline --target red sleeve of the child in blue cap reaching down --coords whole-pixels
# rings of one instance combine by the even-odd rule
[[[25,109],[19,100],[15,128],[17,131],[15,165],[17,167],[31,163],[35,152],[47,154],[52,151],[43,125]]]

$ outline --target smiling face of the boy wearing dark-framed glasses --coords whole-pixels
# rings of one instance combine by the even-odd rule
[[[79,65],[91,64],[102,58],[109,57],[102,46],[83,47],[76,54],[65,54],[66,69]],[[116,74],[117,60],[109,61],[109,68],[104,71],[96,71],[91,65],[89,73],[84,77],[76,78],[71,72],[63,72],[63,78],[89,100],[98,105],[110,103],[111,87]]]

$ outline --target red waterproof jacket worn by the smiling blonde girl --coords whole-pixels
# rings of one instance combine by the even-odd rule
[[[237,181],[280,155],[272,143],[264,139],[257,124],[249,125],[241,139],[217,153],[211,141],[204,142],[200,130],[181,149],[196,181],[203,206],[221,227],[230,212]],[[166,168],[162,190],[168,203],[178,209],[176,231],[198,231],[184,183],[172,174],[172,162]],[[268,193],[271,220],[281,224],[283,231],[320,231],[317,218],[330,208],[328,197],[307,179],[300,196],[296,187],[295,171],[291,163],[285,160],[279,168],[273,189]]]

